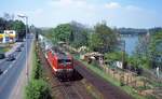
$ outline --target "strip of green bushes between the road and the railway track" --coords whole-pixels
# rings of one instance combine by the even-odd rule
[[[25,88],[25,99],[52,99],[50,88],[42,80],[42,67],[37,51],[33,53],[32,75]]]

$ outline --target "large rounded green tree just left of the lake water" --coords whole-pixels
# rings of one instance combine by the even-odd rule
[[[95,32],[91,36],[90,46],[100,53],[112,52],[117,44],[117,33],[106,23],[97,24]]]

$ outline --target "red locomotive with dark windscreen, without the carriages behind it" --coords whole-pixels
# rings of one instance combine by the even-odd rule
[[[57,77],[71,77],[73,73],[73,58],[60,52],[58,47],[46,51],[46,58]]]

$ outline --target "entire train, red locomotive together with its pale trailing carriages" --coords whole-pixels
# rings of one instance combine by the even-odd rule
[[[59,79],[72,77],[75,71],[72,56],[65,53],[58,45],[52,44],[41,34],[38,36],[38,42],[54,75]]]

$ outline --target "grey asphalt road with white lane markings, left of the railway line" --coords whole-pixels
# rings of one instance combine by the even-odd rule
[[[29,53],[32,39],[27,39],[27,53]],[[25,68],[26,62],[26,45],[22,48],[22,52],[14,52],[16,59],[13,61],[2,60],[0,68],[3,73],[0,75],[0,99],[9,99],[15,83]],[[28,55],[28,54],[27,54]]]

